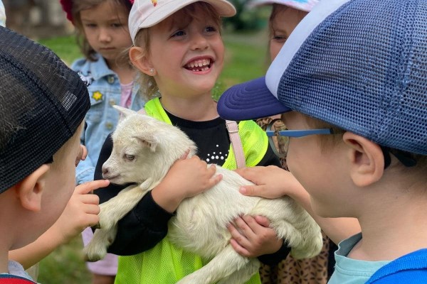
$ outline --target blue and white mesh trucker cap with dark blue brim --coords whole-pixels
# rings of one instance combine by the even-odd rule
[[[427,155],[427,1],[320,1],[265,78],[218,101],[230,120],[290,110]]]

